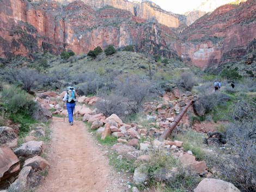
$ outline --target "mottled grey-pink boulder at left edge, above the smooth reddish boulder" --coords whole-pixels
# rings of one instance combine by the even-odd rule
[[[17,135],[11,127],[0,127],[0,146],[16,147],[18,144]]]

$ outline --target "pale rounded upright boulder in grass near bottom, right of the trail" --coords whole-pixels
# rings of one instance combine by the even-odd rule
[[[147,164],[141,164],[134,171],[133,182],[135,182],[135,184],[144,184],[144,182],[148,179],[148,174]]]

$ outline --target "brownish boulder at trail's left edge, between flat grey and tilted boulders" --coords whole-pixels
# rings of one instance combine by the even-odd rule
[[[23,166],[31,166],[33,170],[45,170],[46,168],[50,168],[50,164],[44,158],[40,156],[35,156],[25,160]]]

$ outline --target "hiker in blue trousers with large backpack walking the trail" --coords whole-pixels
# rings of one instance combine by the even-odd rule
[[[68,86],[68,88],[66,88],[65,96],[62,98],[64,102],[66,101],[66,109],[69,113],[69,125],[73,125],[73,112],[76,106],[76,96],[75,88]]]

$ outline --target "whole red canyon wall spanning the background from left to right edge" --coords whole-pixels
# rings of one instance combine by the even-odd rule
[[[146,20],[148,17],[143,14],[151,12],[141,14],[133,9],[134,5],[129,11],[112,7],[95,10],[81,1],[65,5],[44,1],[1,2],[0,57],[3,58],[33,57],[33,52],[60,53],[64,49],[80,54],[109,44],[115,47],[136,45],[139,51],[181,58],[204,68],[239,60],[246,54],[247,45],[256,38],[255,0],[241,5],[223,5],[186,27],[182,33],[180,29],[167,27],[168,24],[164,26],[157,21],[159,19]],[[96,4],[98,1],[88,2],[94,2],[93,7],[102,7]],[[131,2],[126,3],[128,9]],[[152,13],[156,14],[156,9],[161,12],[155,7]],[[177,21],[178,25],[173,27],[179,26],[180,20]]]

